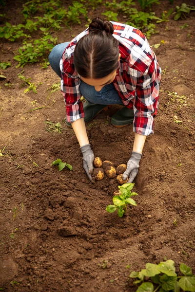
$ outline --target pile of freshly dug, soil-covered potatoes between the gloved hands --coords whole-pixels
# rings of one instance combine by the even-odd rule
[[[128,178],[126,181],[122,179],[123,173],[127,169],[126,164],[120,164],[115,168],[111,161],[105,160],[102,162],[101,158],[96,157],[94,166],[93,176],[97,181],[103,180],[105,174],[109,179],[114,179],[117,176],[117,183],[119,184],[127,183],[128,181]]]

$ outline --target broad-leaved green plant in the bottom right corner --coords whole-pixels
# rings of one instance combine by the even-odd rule
[[[183,274],[182,276],[177,276],[174,261],[168,259],[158,265],[147,263],[146,269],[140,272],[134,271],[130,277],[136,278],[134,284],[142,282],[137,292],[176,292],[180,288],[183,291],[195,292],[195,275],[192,274],[192,269],[181,263],[179,270]],[[147,282],[145,282],[146,279]]]

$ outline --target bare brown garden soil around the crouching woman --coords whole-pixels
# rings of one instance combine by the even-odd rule
[[[171,8],[169,1],[161,2],[153,7],[158,16]],[[20,23],[21,2],[7,1],[8,7],[10,21]],[[92,10],[90,18],[103,9]],[[84,30],[84,20],[71,28],[57,32],[59,43]],[[17,76],[22,69],[13,60],[20,41],[1,39],[1,61],[12,63],[1,70],[7,79],[0,80],[1,151],[6,146],[0,157],[3,291],[134,292],[130,271],[166,259],[175,261],[177,272],[181,262],[195,272],[195,13],[178,21],[172,17],[157,30],[149,39],[160,44],[154,51],[163,70],[155,134],[146,140],[135,180],[137,206],[128,206],[122,219],[106,212],[116,179],[93,184],[83,171],[75,134],[64,124],[63,97],[51,93],[58,76],[50,67],[26,65],[23,75],[42,84],[37,94],[25,94]],[[134,142],[132,125],[110,123],[119,108],[112,106],[87,124],[95,156],[115,166],[127,163]],[[64,130],[50,132],[44,121],[60,122]],[[58,158],[73,169],[59,172],[51,166]]]

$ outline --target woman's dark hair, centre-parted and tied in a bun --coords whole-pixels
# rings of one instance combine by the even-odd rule
[[[99,17],[89,25],[89,34],[81,37],[74,51],[74,65],[85,78],[103,78],[118,66],[118,41],[112,36],[113,24]]]

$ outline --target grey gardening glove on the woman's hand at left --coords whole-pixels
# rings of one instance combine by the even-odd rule
[[[91,182],[92,181],[92,172],[93,172],[93,169],[94,169],[94,165],[93,165],[93,162],[94,162],[94,152],[92,151],[91,149],[91,145],[90,144],[86,144],[84,146],[81,146],[80,147],[80,150],[82,152],[82,156],[83,156],[83,168],[88,176],[88,178],[90,179]]]

